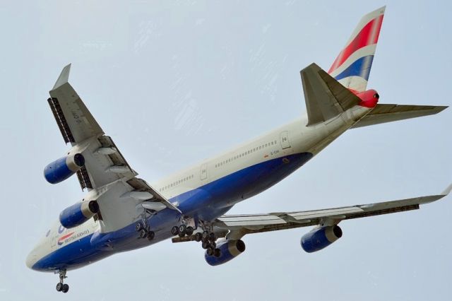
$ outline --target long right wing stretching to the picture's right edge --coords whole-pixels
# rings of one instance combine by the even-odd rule
[[[396,213],[419,209],[420,205],[437,201],[451,192],[452,184],[441,194],[421,196],[413,199],[385,201],[340,208],[314,211],[276,212],[267,214],[246,214],[238,216],[221,216],[213,222],[218,237],[239,239],[246,234],[301,228],[323,223],[336,225],[342,220],[365,218],[381,214]],[[191,240],[189,237],[173,238],[173,242]]]

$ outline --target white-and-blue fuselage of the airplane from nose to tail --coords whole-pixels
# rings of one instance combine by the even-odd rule
[[[306,126],[307,117],[302,117],[231,151],[154,182],[151,186],[181,210],[184,208],[182,212],[213,220],[228,211],[234,203],[258,194],[279,182],[328,146],[368,112],[370,109],[366,107],[355,106],[327,122],[313,126]],[[309,154],[309,157],[303,162],[299,161],[297,163],[299,165],[290,167],[292,161],[298,162],[299,154]],[[234,178],[234,175],[238,178]],[[208,194],[207,204],[200,199],[188,200],[184,197],[198,190]],[[138,216],[133,216],[131,220],[136,218]],[[105,248],[108,247],[117,252],[145,247],[172,236],[170,232],[171,226],[174,225],[172,218],[168,218],[167,223],[160,221],[160,224],[155,225],[158,232],[153,242],[126,239],[123,235],[120,243],[118,240],[115,244],[114,239],[102,242],[103,249],[99,249],[99,245],[94,241],[100,232],[102,221],[91,218],[71,229],[65,229],[57,222],[30,252],[27,265],[40,271],[78,268],[114,254],[105,252]],[[133,223],[130,224],[133,226]],[[124,230],[118,226],[108,231],[108,234],[114,237],[117,232]]]

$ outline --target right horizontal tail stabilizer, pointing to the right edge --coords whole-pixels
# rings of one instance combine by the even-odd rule
[[[374,110],[359,120],[352,128],[396,122],[398,120],[410,119],[433,115],[445,110],[447,106],[434,105],[376,105]]]

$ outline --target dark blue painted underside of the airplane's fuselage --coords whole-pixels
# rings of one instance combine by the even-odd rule
[[[311,158],[311,153],[297,153],[258,163],[198,189],[187,191],[169,201],[177,201],[179,209],[186,216],[213,220],[226,213],[234,203],[254,196],[280,182]],[[172,237],[171,228],[179,223],[179,218],[179,213],[170,209],[160,211],[150,218],[150,228],[155,232],[152,242],[138,239],[134,224],[105,234],[95,232],[44,256],[33,268],[39,271],[78,268],[115,252],[147,247],[149,244]]]

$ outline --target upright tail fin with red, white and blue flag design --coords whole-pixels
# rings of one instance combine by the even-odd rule
[[[354,93],[366,90],[385,8],[383,6],[362,17],[328,71]]]

